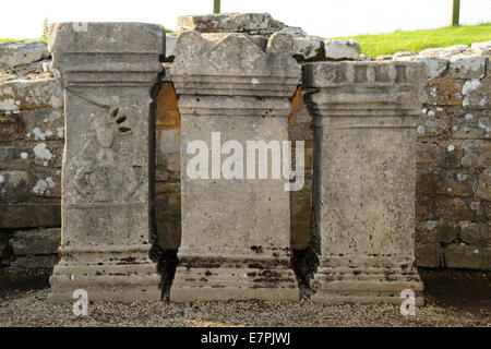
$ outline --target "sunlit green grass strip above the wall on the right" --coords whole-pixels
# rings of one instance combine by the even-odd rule
[[[343,39],[346,38],[358,40],[361,52],[370,57],[393,55],[397,51],[418,52],[432,47],[470,45],[472,43],[491,40],[491,22],[457,27],[448,26],[438,29],[396,31],[390,34],[343,37]]]

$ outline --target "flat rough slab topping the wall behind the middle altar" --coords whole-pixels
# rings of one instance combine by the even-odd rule
[[[177,24],[183,31],[247,33],[252,35],[272,35],[287,26],[274,20],[270,13],[183,15],[177,19]]]

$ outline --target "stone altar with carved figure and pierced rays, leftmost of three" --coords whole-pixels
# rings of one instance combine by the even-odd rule
[[[50,298],[159,300],[148,257],[153,168],[152,88],[165,31],[141,23],[59,23],[52,69],[64,88],[61,261]]]

